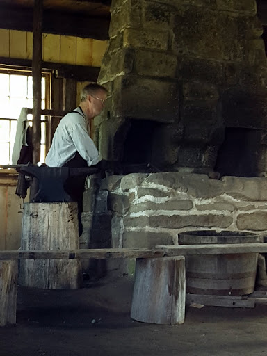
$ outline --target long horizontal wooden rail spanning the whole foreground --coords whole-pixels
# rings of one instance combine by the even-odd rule
[[[192,254],[267,253],[267,243],[232,243],[211,245],[159,245],[147,248],[99,248],[88,250],[13,250],[0,251],[4,259],[111,259],[156,258],[186,256]]]

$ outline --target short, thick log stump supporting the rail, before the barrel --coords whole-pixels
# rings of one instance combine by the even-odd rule
[[[136,259],[131,318],[144,323],[184,323],[185,281],[183,256]]]

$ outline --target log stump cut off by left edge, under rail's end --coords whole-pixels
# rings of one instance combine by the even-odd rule
[[[17,261],[0,261],[0,326],[16,323]]]

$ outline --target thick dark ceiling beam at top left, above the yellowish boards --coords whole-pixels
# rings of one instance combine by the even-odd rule
[[[72,35],[82,38],[108,40],[110,16],[90,17],[58,10],[44,10],[44,33]],[[33,31],[33,9],[22,6],[1,6],[0,28]]]

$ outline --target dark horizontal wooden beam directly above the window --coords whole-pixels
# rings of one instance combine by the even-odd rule
[[[32,61],[29,59],[0,57],[0,65],[6,70],[12,67],[24,67],[31,69]],[[70,78],[76,81],[97,81],[100,67],[87,65],[70,65],[64,63],[42,61],[42,70],[54,70],[58,78]]]

